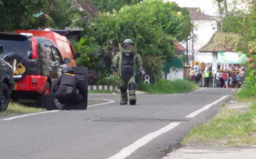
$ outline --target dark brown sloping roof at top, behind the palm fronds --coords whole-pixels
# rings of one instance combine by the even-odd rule
[[[82,10],[87,11],[92,18],[98,16],[98,9],[93,5],[90,0],[71,0],[76,7],[81,8]]]

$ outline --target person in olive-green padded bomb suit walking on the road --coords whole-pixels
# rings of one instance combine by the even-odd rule
[[[120,76],[119,87],[121,91],[120,105],[126,105],[128,102],[127,87],[129,92],[130,105],[136,105],[136,84],[135,74],[136,65],[141,76],[145,75],[143,61],[137,52],[137,46],[131,39],[125,39],[122,44],[118,44],[118,52],[112,61],[112,72],[118,71]]]

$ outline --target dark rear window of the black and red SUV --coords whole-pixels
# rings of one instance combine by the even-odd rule
[[[0,56],[19,53],[24,57],[28,57],[31,54],[30,41],[28,38],[7,38],[0,35]]]

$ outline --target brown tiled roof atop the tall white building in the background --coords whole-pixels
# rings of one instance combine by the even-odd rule
[[[191,20],[215,20],[209,15],[203,14],[200,8],[187,8]]]

